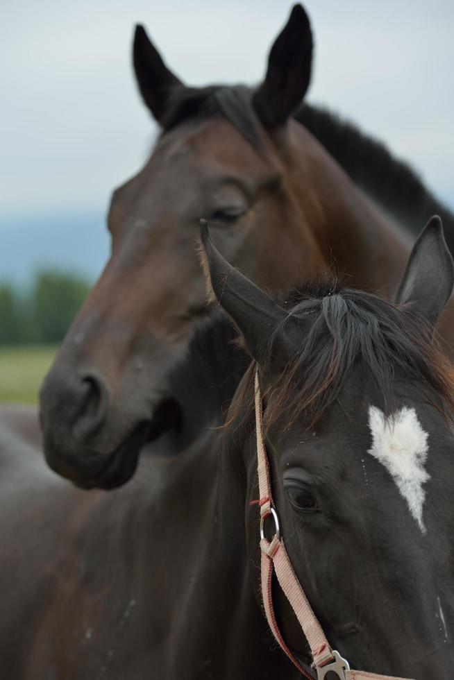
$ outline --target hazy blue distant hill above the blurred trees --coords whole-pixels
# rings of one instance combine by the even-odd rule
[[[109,247],[101,212],[0,218],[0,280],[26,286],[37,269],[56,266],[94,281]]]

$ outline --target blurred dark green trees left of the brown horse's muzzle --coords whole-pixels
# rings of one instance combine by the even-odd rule
[[[26,291],[0,282],[0,345],[59,343],[90,288],[58,269],[38,272]]]

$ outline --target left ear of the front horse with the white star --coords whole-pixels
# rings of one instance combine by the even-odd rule
[[[273,338],[276,342],[274,331],[287,319],[287,312],[224,260],[210,238],[207,222],[201,220],[200,223],[202,264],[208,284],[211,284],[219,305],[242,332],[252,357],[264,364],[270,340]]]

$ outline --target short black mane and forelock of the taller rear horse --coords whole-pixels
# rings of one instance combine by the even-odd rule
[[[162,121],[163,133],[189,119],[221,116],[260,148],[262,125],[253,108],[253,92],[245,85],[174,87]],[[454,253],[454,215],[428,191],[409,164],[394,158],[385,144],[325,108],[304,104],[294,119],[318,139],[358,187],[414,235],[433,214],[442,216],[446,242]]]

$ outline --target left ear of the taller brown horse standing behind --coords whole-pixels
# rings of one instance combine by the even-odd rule
[[[140,94],[156,121],[160,123],[167,110],[172,88],[182,83],[169,71],[140,24],[135,27],[133,65]]]

